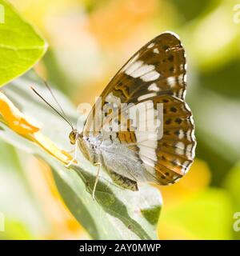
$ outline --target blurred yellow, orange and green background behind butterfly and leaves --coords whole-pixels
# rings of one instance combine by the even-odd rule
[[[50,49],[36,70],[76,106],[93,103],[143,44],[165,30],[186,47],[197,158],[174,186],[159,187],[160,239],[239,239],[240,2],[232,0],[11,0]],[[0,141],[0,238],[88,238],[44,162]],[[35,166],[32,168],[32,166]],[[3,170],[8,170],[3,171]]]

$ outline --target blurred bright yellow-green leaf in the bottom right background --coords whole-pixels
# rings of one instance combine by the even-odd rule
[[[178,218],[176,218],[178,216]],[[210,189],[194,195],[161,217],[165,225],[185,230],[193,239],[231,239],[232,207],[224,190]],[[161,230],[161,225],[159,227]],[[174,234],[181,239],[181,234]]]

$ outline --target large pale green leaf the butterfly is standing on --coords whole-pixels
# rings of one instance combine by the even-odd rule
[[[4,88],[5,94],[23,113],[42,124],[42,133],[51,138],[64,150],[72,150],[68,139],[70,127],[44,103],[39,102],[29,89],[34,84],[37,90],[48,98],[49,92],[40,86],[30,75],[12,82]],[[76,122],[76,113],[70,102],[58,91],[55,94],[66,114]],[[48,98],[48,100],[51,100]],[[46,122],[47,120],[47,122]],[[78,124],[82,122],[78,120]],[[156,226],[162,205],[159,191],[142,184],[138,192],[123,190],[114,185],[104,170],[95,193],[91,198],[97,168],[80,154],[78,166],[66,169],[61,162],[46,154],[33,142],[20,137],[7,126],[0,123],[0,137],[18,148],[43,158],[50,164],[54,179],[66,206],[74,217],[81,222],[94,239],[155,239]]]

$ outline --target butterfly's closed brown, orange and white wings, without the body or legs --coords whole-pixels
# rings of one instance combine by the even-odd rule
[[[196,144],[192,114],[184,101],[185,92],[186,58],[182,44],[175,34],[160,34],[138,50],[112,78],[101,94],[101,101],[91,110],[83,134],[87,136],[92,130],[94,134],[101,133],[117,120],[118,130],[112,129],[106,136],[114,137],[111,140],[121,142],[134,152],[144,168],[138,170],[142,174],[136,174],[131,173],[130,167],[123,171],[121,165],[116,165],[114,172],[135,181],[173,183],[189,170]],[[149,103],[152,107],[146,106]],[[146,106],[143,112],[157,111],[157,103],[163,105],[162,136],[157,129],[132,130],[126,110],[142,104]],[[126,108],[122,108],[122,104],[126,104]],[[146,114],[144,122],[150,121],[151,116]],[[126,127],[124,131],[119,130],[122,125]]]

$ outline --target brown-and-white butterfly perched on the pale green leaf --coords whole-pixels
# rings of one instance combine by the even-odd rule
[[[75,157],[68,166],[78,148],[98,166],[93,198],[101,166],[114,183],[133,191],[138,182],[169,185],[188,172],[196,139],[185,95],[185,50],[172,32],[146,43],[122,66],[90,110],[82,132],[72,126],[69,135]],[[138,106],[142,115],[136,122],[130,110]],[[161,126],[154,126],[158,118]],[[146,122],[150,129],[139,130]]]

